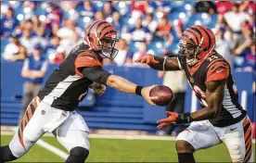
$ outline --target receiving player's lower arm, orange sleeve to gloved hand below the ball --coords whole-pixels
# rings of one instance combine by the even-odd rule
[[[212,68],[212,69],[211,69]],[[229,74],[229,67],[226,63],[212,64],[207,74],[206,80],[206,102],[207,106],[193,113],[177,114],[166,112],[169,115],[166,119],[158,120],[158,128],[167,126],[173,122],[190,123],[204,119],[213,119],[218,117],[224,100],[224,86]]]

